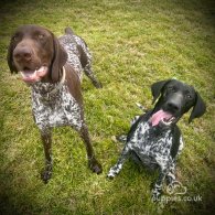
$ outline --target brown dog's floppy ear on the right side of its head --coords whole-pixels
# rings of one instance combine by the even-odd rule
[[[67,53],[60,44],[58,40],[53,35],[54,55],[51,65],[51,78],[53,82],[58,82],[61,76],[61,68],[67,61]]]

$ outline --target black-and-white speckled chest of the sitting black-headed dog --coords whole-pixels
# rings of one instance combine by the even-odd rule
[[[130,147],[144,164],[165,163],[172,147],[171,130],[159,131],[149,122],[140,122],[130,140]]]

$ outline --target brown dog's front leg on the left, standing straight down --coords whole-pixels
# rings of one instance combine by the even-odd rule
[[[44,147],[44,153],[45,153],[45,168],[41,172],[41,179],[44,181],[44,183],[47,183],[47,181],[52,176],[52,131],[51,129],[41,130],[41,139]]]

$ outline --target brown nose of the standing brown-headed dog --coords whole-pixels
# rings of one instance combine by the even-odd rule
[[[20,62],[20,61],[30,62],[31,58],[32,58],[32,53],[31,53],[31,50],[28,46],[17,47],[13,51],[13,57],[18,62]]]

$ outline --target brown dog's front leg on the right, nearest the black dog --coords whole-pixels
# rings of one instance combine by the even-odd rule
[[[101,173],[103,168],[101,164],[96,160],[94,149],[89,139],[88,128],[86,125],[83,125],[83,127],[80,128],[80,137],[84,140],[86,147],[89,169],[97,174]]]

